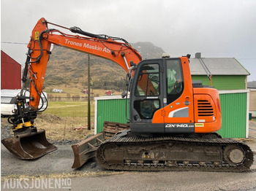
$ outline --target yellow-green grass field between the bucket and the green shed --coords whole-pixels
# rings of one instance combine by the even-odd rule
[[[49,101],[48,109],[36,119],[50,140],[83,140],[94,133],[94,103],[91,104],[91,130],[88,130],[87,101]]]

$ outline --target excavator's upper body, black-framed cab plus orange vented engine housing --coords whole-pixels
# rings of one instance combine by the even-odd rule
[[[144,60],[130,81],[132,133],[212,133],[221,128],[219,93],[192,83],[189,57]]]

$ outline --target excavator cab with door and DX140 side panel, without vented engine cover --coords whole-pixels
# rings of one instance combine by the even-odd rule
[[[133,132],[194,132],[192,82],[186,76],[187,67],[187,57],[145,60],[138,64],[130,93]],[[168,128],[174,123],[179,126]]]

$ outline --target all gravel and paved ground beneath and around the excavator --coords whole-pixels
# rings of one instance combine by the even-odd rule
[[[249,126],[249,139],[245,141],[256,155],[256,121],[250,121]],[[1,122],[1,139],[10,136],[10,125]],[[58,149],[37,160],[19,160],[1,144],[1,190],[20,190],[6,189],[5,178],[24,179],[26,176],[30,177],[26,184],[31,187],[33,179],[42,181],[68,177],[70,180],[68,189],[61,187],[46,190],[256,190],[256,162],[249,173],[106,171],[97,165],[95,159],[89,160],[81,168],[72,169],[70,146],[75,142],[52,141]],[[23,186],[26,184],[23,183]]]

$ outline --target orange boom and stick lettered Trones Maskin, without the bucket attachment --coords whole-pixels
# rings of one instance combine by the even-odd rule
[[[27,62],[30,76],[30,97],[32,97],[29,106],[32,107],[32,110],[37,109],[39,105],[51,44],[106,58],[117,63],[127,73],[130,67],[129,61],[139,63],[142,60],[140,54],[124,39],[90,34],[78,27],[66,29],[83,36],[64,34],[59,30],[49,29],[48,22],[44,18],[37,22],[32,31],[28,44],[28,56],[31,59]]]

